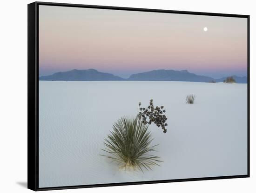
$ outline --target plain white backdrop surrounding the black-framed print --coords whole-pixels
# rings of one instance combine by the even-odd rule
[[[27,186],[27,4],[31,0],[5,0],[0,5],[0,192],[31,192]],[[104,6],[127,6],[181,11],[250,15],[250,97],[256,79],[254,47],[256,12],[253,0],[58,0],[55,2]],[[255,102],[250,102],[250,178],[176,182],[59,190],[60,193],[128,192],[254,192]]]

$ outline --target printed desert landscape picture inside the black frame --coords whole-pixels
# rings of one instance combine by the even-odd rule
[[[39,5],[39,187],[246,175],[247,18]]]

